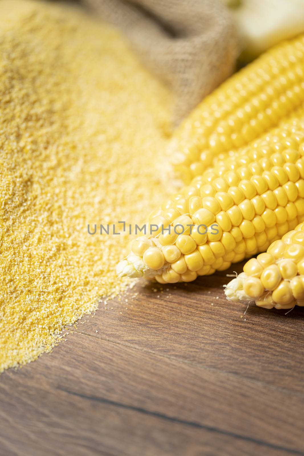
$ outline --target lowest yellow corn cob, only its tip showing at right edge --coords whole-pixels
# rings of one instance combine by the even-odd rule
[[[225,285],[229,301],[255,301],[266,309],[304,306],[304,223],[247,261],[243,270]]]

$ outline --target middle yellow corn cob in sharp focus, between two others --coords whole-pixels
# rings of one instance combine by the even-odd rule
[[[195,177],[151,214],[158,229],[135,239],[118,275],[191,281],[265,252],[304,220],[303,131],[291,119]]]

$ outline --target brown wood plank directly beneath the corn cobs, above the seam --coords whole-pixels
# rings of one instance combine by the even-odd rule
[[[226,273],[186,286],[138,285],[121,302],[101,304],[77,331],[302,393],[304,309],[285,315],[251,305],[244,316],[246,306],[224,298]]]

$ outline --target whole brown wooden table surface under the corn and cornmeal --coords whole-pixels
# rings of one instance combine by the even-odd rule
[[[304,309],[244,315],[225,273],[138,285],[1,375],[0,455],[304,455]]]

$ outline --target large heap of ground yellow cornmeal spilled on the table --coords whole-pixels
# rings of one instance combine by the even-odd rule
[[[170,93],[81,10],[0,1],[0,371],[128,284],[123,235],[164,193]],[[155,165],[154,165],[155,164]]]

